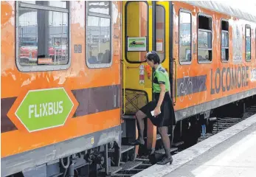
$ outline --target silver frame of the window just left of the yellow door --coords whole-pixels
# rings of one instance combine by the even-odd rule
[[[85,31],[85,34],[86,34],[86,66],[89,68],[89,69],[104,69],[104,68],[110,68],[112,66],[112,63],[113,63],[113,8],[112,8],[112,1],[108,1],[109,3],[109,15],[107,14],[103,14],[103,13],[91,13],[89,12],[89,3],[90,1],[86,1],[86,31]],[[88,59],[89,59],[89,47],[88,47],[88,40],[87,40],[87,30],[88,30],[88,16],[91,15],[91,16],[95,16],[95,17],[99,17],[99,18],[109,18],[110,19],[110,39],[109,39],[109,42],[110,42],[110,51],[111,51],[111,61],[110,63],[97,63],[97,64],[91,64],[89,63]]]

